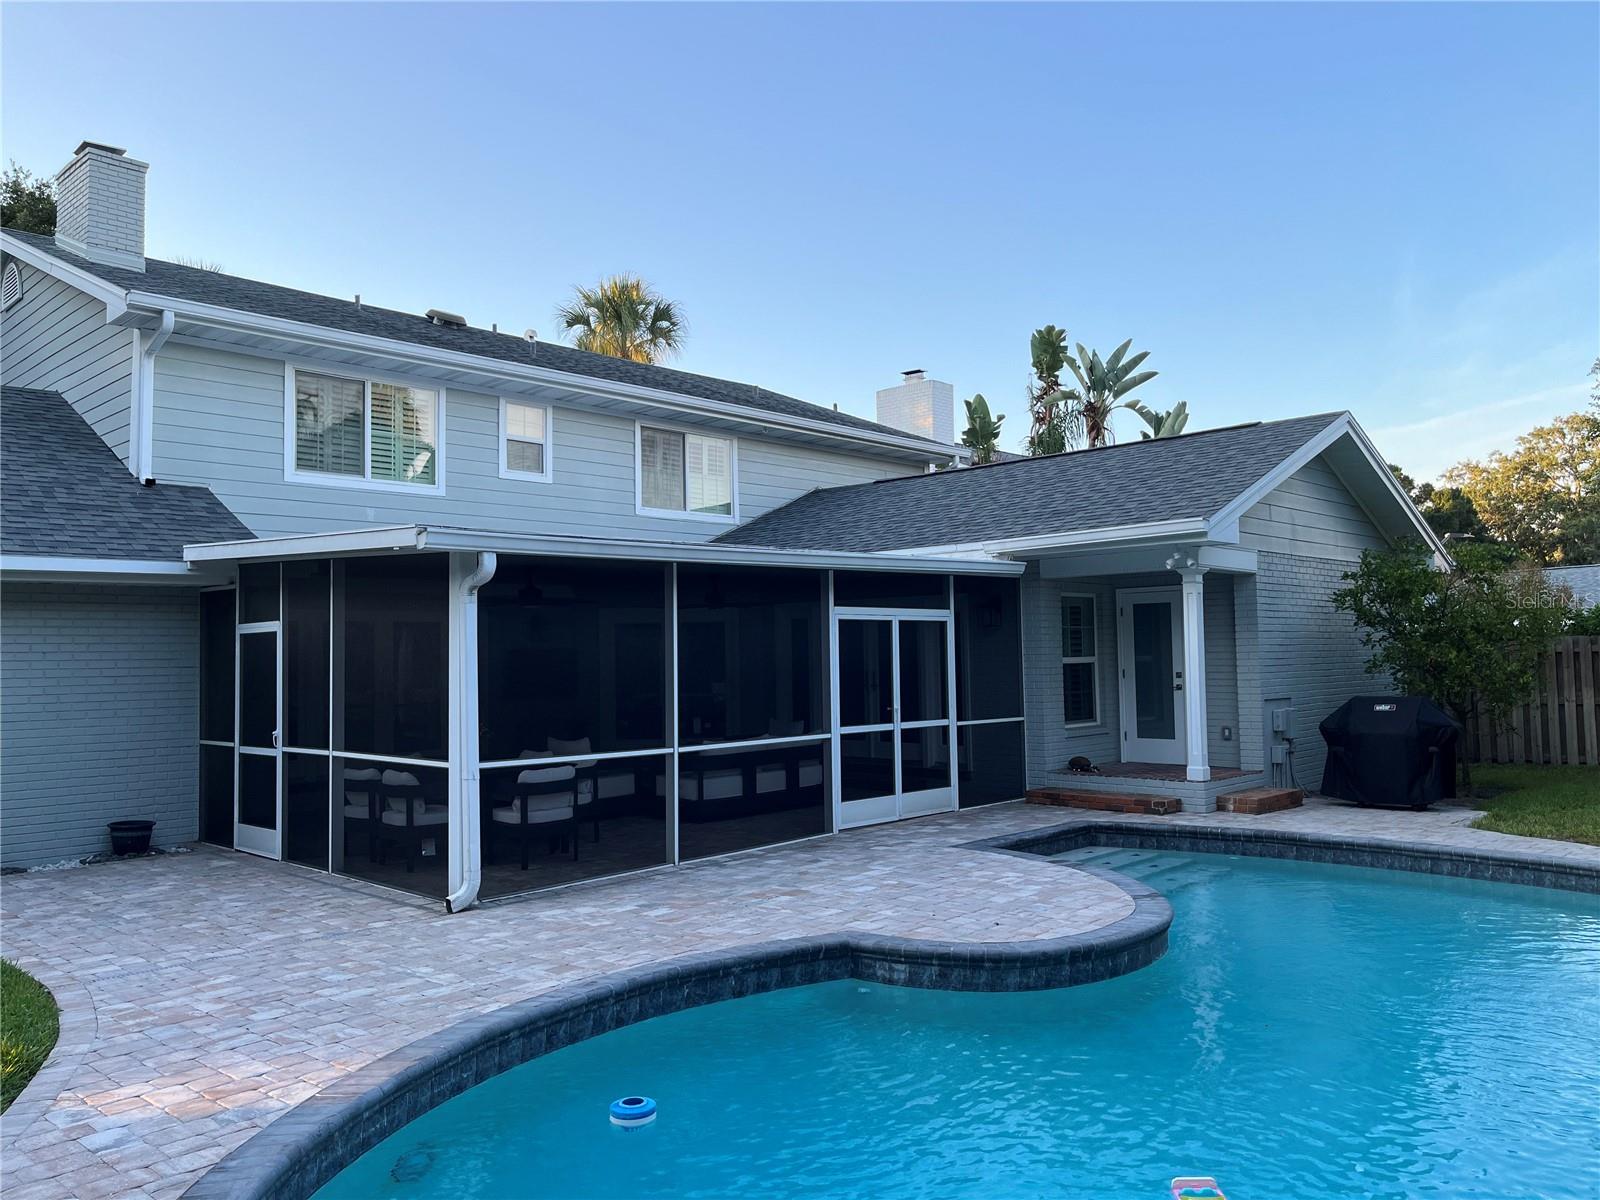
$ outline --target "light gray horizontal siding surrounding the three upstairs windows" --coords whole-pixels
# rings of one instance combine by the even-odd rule
[[[499,400],[445,395],[443,493],[299,483],[283,477],[282,362],[168,344],[155,373],[155,475],[203,483],[258,536],[442,523],[509,533],[706,541],[720,522],[635,512],[632,419],[554,411],[554,480],[499,477]],[[907,474],[904,462],[739,438],[739,515],[811,488]]]

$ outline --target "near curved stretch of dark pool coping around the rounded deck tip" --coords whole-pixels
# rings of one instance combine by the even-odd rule
[[[1136,971],[1166,954],[1173,909],[1165,896],[1114,870],[1074,869],[1125,891],[1133,912],[1099,930],[1035,941],[853,931],[786,938],[566,984],[458,1021],[330,1083],[224,1155],[184,1200],[306,1200],[384,1138],[467,1088],[654,1016],[838,979],[965,992],[1070,987]]]

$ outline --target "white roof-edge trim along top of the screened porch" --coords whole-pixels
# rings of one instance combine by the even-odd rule
[[[371,530],[251,538],[232,542],[200,542],[184,547],[190,563],[243,562],[250,558],[307,558],[374,550],[498,550],[550,558],[626,558],[643,562],[805,566],[891,571],[901,574],[1019,576],[1024,563],[1005,558],[914,558],[858,550],[773,550],[718,542],[675,542],[624,538],[574,538],[565,534],[494,533],[432,525],[382,525]],[[944,610],[915,610],[941,613]]]

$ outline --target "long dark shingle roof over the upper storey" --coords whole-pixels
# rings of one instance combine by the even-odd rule
[[[590,379],[606,379],[610,382],[630,384],[635,387],[654,387],[677,395],[694,397],[698,400],[714,400],[717,403],[741,405],[758,413],[792,416],[824,424],[840,426],[866,435],[910,438],[918,442],[915,434],[880,426],[850,413],[837,413],[832,408],[797,400],[781,392],[768,392],[754,384],[739,384],[728,379],[714,379],[707,374],[693,374],[670,366],[651,366],[634,363],[624,358],[613,358],[605,354],[589,354],[576,350],[560,342],[541,341],[530,347],[520,336],[494,333],[493,330],[454,330],[434,325],[427,317],[394,309],[379,309],[373,304],[357,306],[354,301],[318,296],[310,291],[280,288],[275,283],[258,283],[256,280],[224,275],[216,270],[186,267],[178,262],[163,262],[147,258],[146,269],[126,270],[123,267],[107,267],[91,262],[56,245],[51,237],[38,234],[22,234],[16,229],[5,230],[21,242],[37,250],[69,262],[107,283],[128,291],[149,291],[173,299],[186,299],[198,304],[214,304],[224,309],[259,314],[264,317],[280,317],[283,320],[306,322],[342,333],[360,333],[371,338],[389,338],[416,346],[429,346],[440,350],[458,350],[475,354],[483,358],[498,358],[520,366],[541,366],[552,371],[587,376]],[[939,443],[930,442],[931,446]],[[947,448],[946,448],[947,450]]]

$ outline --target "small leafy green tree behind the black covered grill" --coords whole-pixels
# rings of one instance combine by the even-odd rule
[[[1344,582],[1333,605],[1355,618],[1371,650],[1366,670],[1462,725],[1502,720],[1528,698],[1539,656],[1570,616],[1566,594],[1536,566],[1507,568],[1498,547],[1456,547],[1454,571],[1437,570],[1421,544],[1363,550]]]

